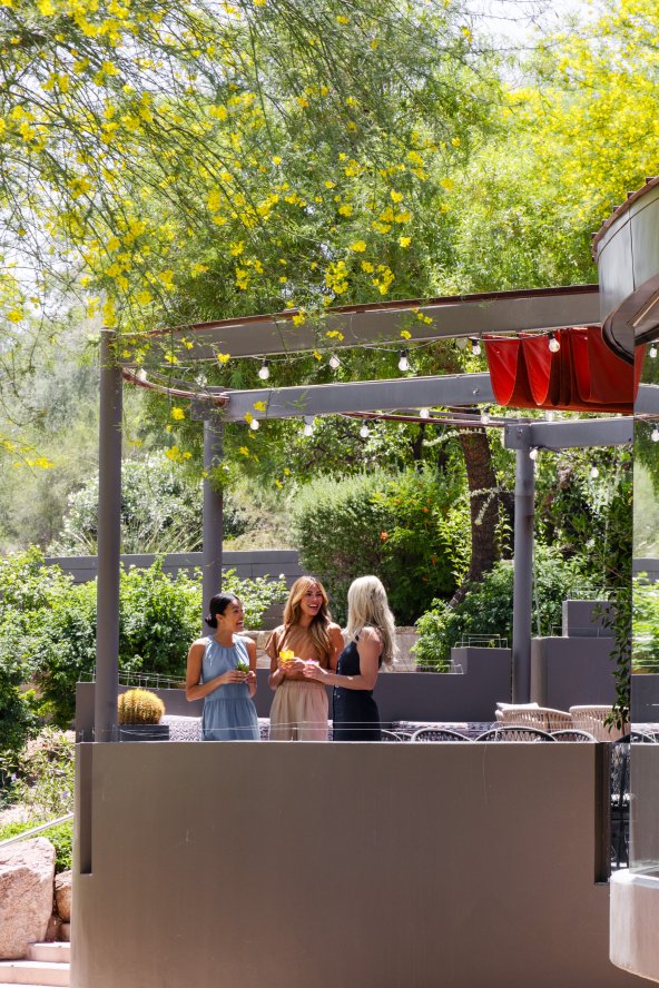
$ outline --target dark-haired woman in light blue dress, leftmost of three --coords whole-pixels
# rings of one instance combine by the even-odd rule
[[[256,645],[240,636],[243,604],[234,593],[217,593],[208,612],[206,624],[216,631],[190,645],[186,699],[204,698],[204,741],[258,741]]]

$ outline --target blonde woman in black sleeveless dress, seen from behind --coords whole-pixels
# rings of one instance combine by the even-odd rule
[[[377,576],[360,576],[347,592],[347,645],[336,672],[307,666],[305,676],[334,686],[334,740],[381,741],[373,688],[382,663],[393,662],[394,618]]]

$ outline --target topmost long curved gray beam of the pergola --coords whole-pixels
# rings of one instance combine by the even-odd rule
[[[431,322],[417,318],[416,313]],[[557,329],[599,324],[600,305],[597,285],[574,285],[346,307],[328,312],[319,327],[313,322],[296,326],[292,320],[294,314],[293,310],[223,319],[136,336],[135,344],[126,340],[129,356],[122,360],[126,366],[134,366],[131,347],[141,349],[148,343],[151,349],[145,355],[145,366],[155,366],[161,363],[163,347],[176,347],[183,337],[193,344],[191,349],[184,350],[187,359],[214,360],[218,352],[246,357],[298,353],[318,345],[333,349],[378,343],[403,346],[402,328],[411,334],[411,343],[483,333]],[[343,339],[327,338],[326,334],[333,330],[341,333]]]

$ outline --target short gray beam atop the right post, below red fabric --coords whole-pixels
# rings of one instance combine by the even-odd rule
[[[571,449],[584,446],[623,446],[633,442],[633,418],[584,418],[565,422],[511,423],[505,426],[508,449]]]

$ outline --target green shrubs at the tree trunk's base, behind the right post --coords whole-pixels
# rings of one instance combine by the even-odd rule
[[[561,606],[570,590],[581,583],[579,567],[558,552],[539,546],[535,553],[533,629],[539,635],[552,633],[561,621]],[[413,646],[419,664],[445,671],[451,649],[466,642],[470,635],[482,641],[496,636],[512,639],[513,564],[496,563],[471,587],[455,609],[444,601],[434,601],[430,611],[416,622],[419,640]]]

